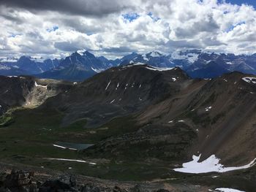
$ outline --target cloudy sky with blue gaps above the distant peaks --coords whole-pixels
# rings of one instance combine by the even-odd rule
[[[0,57],[256,53],[255,0],[1,0]]]

